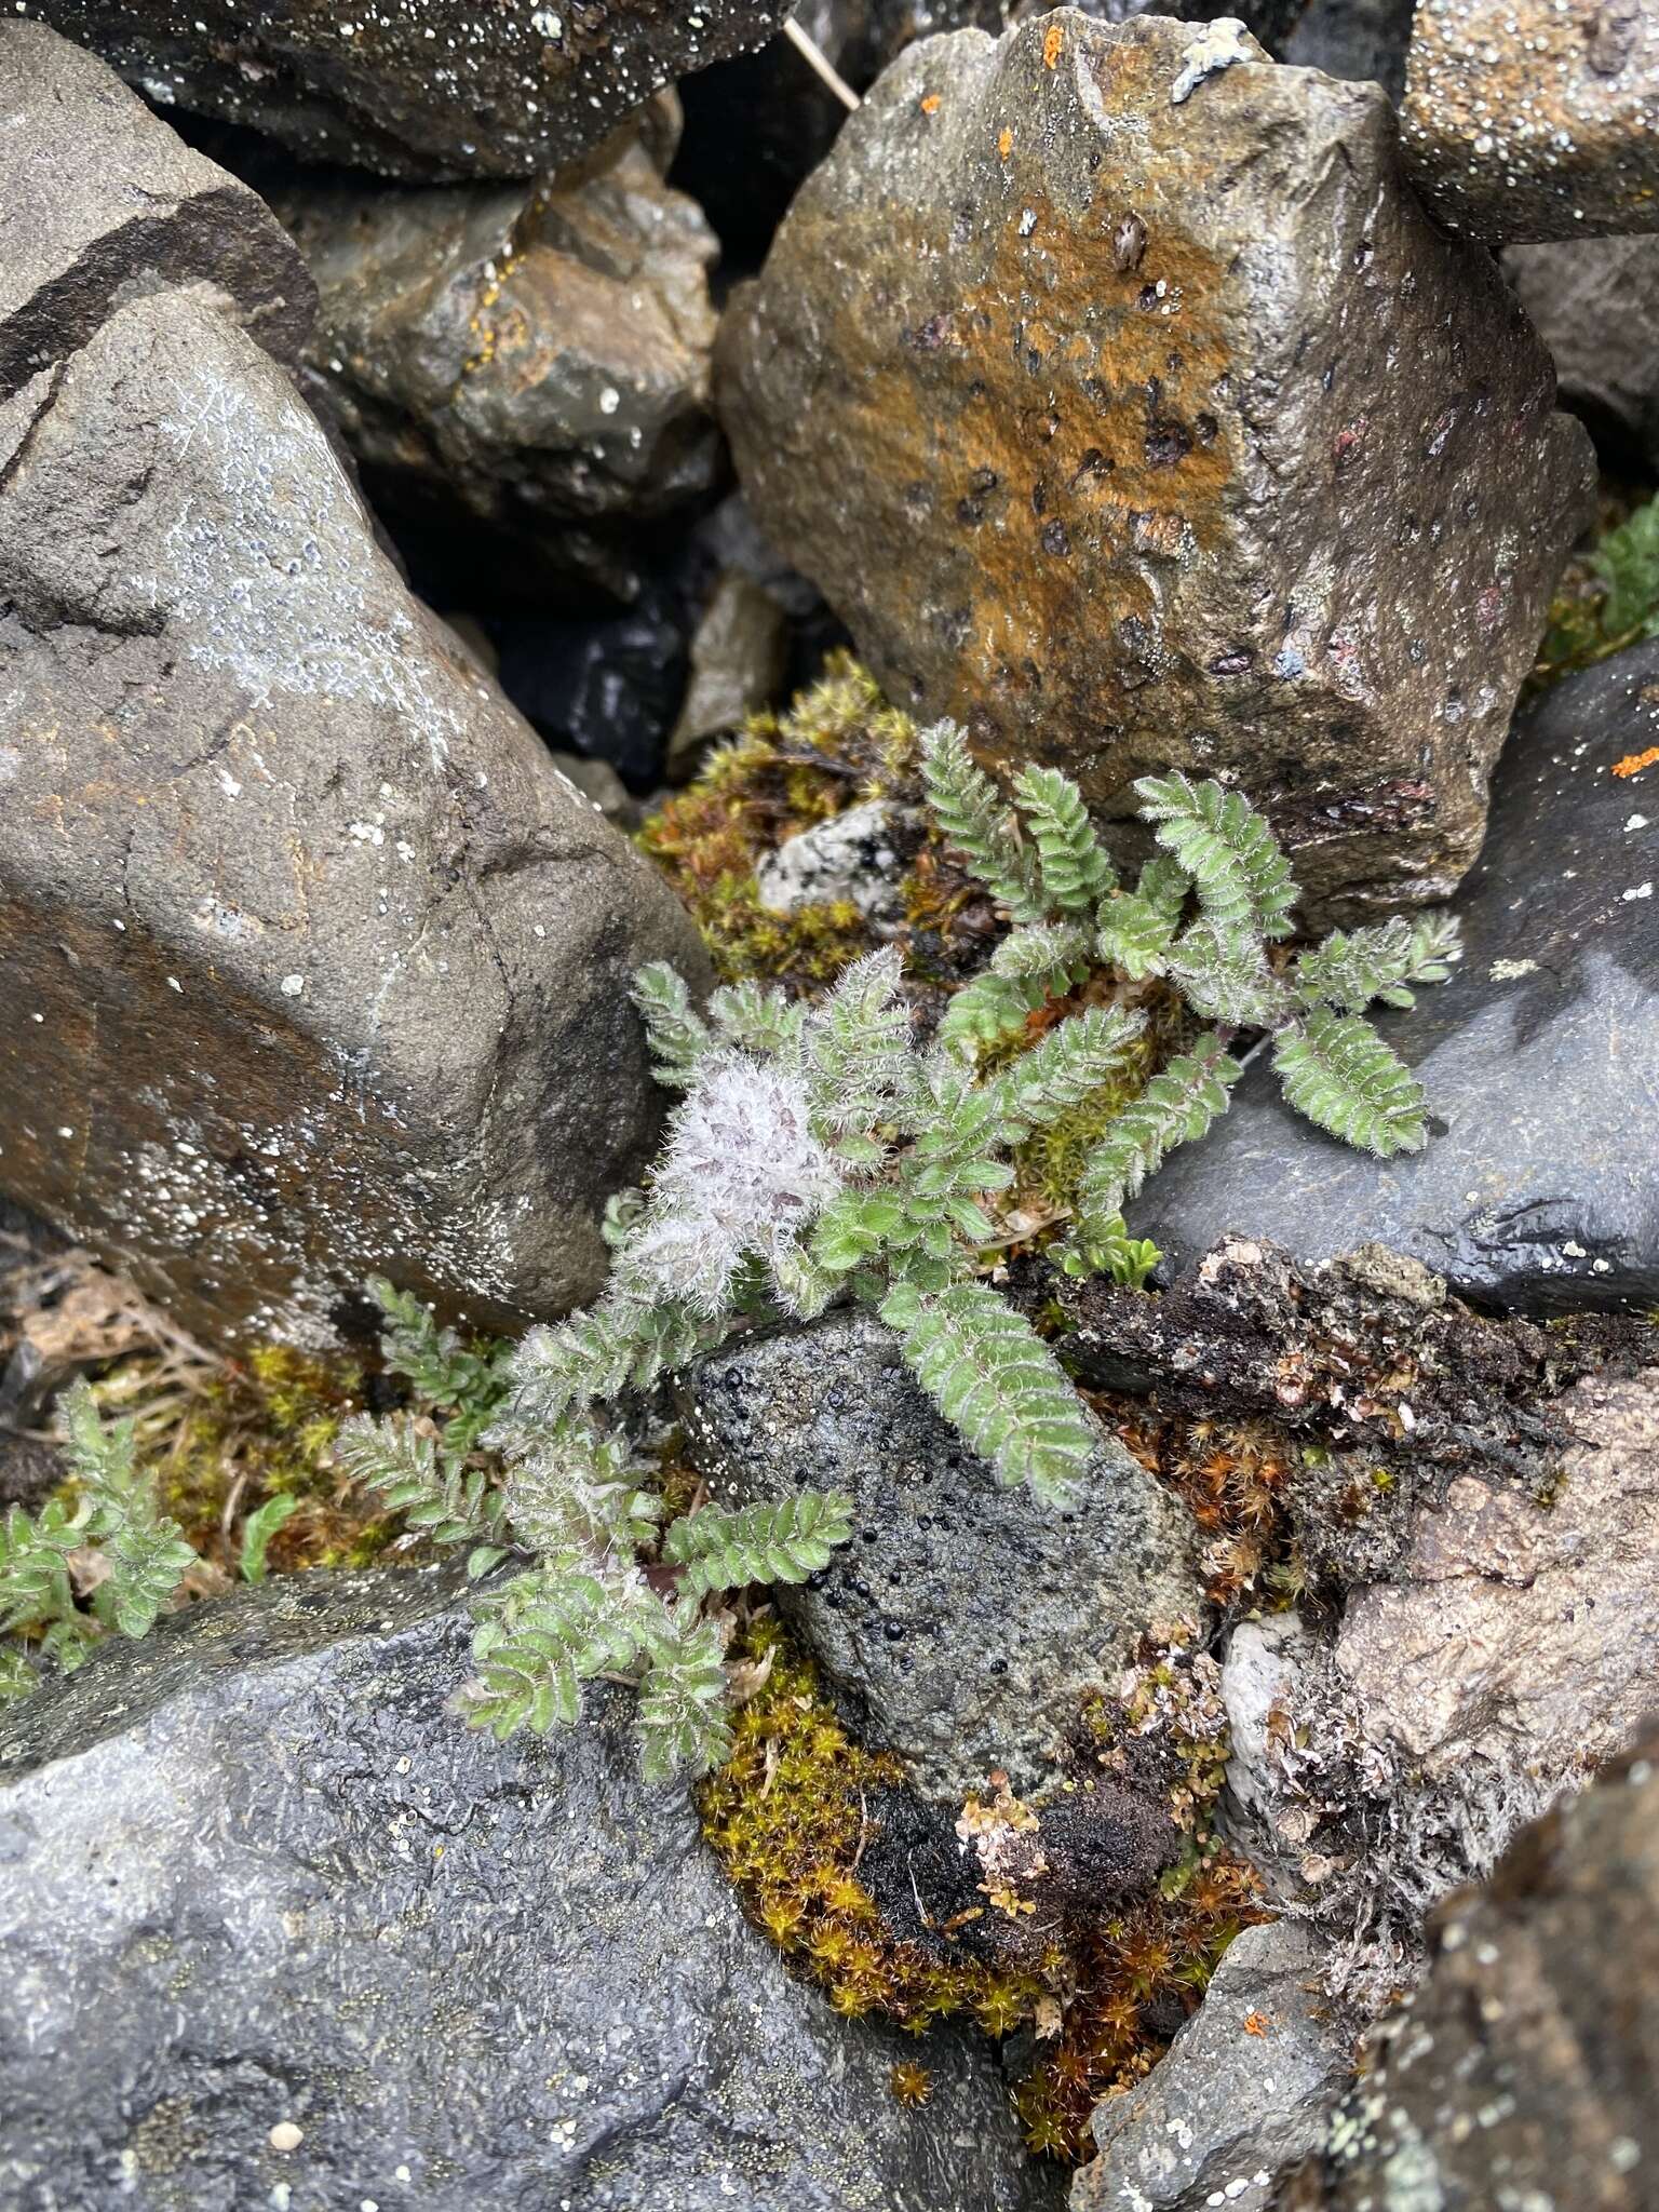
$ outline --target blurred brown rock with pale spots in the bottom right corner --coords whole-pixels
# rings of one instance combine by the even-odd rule
[[[1285,2205],[1648,2212],[1659,2161],[1659,1739],[1509,1851],[1433,1931]]]

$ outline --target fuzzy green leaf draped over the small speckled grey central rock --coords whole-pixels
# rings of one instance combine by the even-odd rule
[[[951,1283],[931,1298],[898,1285],[880,1316],[927,1396],[1000,1482],[1024,1482],[1048,1506],[1075,1495],[1095,1438],[1024,1314],[989,1283]]]

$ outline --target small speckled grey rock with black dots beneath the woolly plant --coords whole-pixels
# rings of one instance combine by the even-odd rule
[[[1192,1528],[1102,1431],[1086,1504],[1044,1513],[971,1458],[867,1314],[750,1336],[684,1385],[717,1495],[849,1491],[856,1535],[779,1610],[876,1745],[960,1801],[991,1767],[1053,1781],[1082,1701],[1115,1688],[1141,1632],[1197,1619]]]

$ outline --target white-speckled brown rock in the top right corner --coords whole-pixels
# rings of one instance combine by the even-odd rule
[[[1659,230],[1659,15],[1646,0],[1422,0],[1400,144],[1486,246]]]

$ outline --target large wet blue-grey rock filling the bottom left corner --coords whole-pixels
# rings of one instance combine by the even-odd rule
[[[626,1692],[507,1745],[456,1717],[442,1593],[268,1584],[0,1721],[0,2199],[1053,2203],[989,2044],[787,1980],[684,1790],[639,1781]]]

